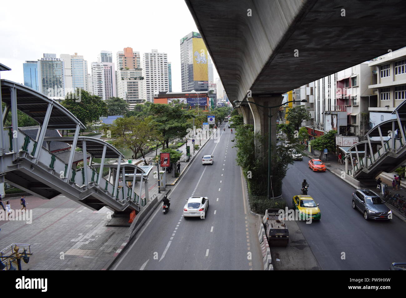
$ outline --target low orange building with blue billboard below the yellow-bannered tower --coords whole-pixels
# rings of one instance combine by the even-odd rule
[[[166,92],[162,91],[154,96],[154,103],[186,103],[188,106],[209,109],[208,92]]]

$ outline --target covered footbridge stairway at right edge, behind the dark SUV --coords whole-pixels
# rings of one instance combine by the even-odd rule
[[[346,172],[359,179],[375,178],[393,172],[406,161],[406,101],[392,112],[394,119],[371,129],[361,141],[346,150]],[[355,165],[353,158],[358,160]]]

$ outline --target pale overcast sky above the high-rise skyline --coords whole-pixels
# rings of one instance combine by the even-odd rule
[[[90,73],[100,51],[112,51],[117,64],[117,51],[132,47],[141,59],[151,49],[168,53],[172,90],[181,91],[179,40],[197,31],[184,0],[11,0],[0,9],[0,62],[11,68],[2,79],[24,83],[23,63],[43,53],[78,53]]]

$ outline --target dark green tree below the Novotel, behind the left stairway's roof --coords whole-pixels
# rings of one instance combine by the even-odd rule
[[[76,102],[78,99],[75,99],[73,94],[67,97],[61,104],[84,125],[99,120],[100,116],[108,115],[107,105],[99,96],[81,90],[79,102]]]

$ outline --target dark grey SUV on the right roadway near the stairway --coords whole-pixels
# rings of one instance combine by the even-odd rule
[[[379,195],[370,189],[357,189],[352,194],[352,208],[360,210],[364,218],[391,219],[392,211],[384,204]]]

